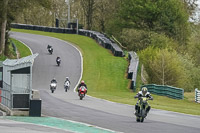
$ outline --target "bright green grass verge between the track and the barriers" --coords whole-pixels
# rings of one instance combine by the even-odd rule
[[[12,31],[56,37],[75,44],[83,54],[83,79],[88,85],[89,95],[124,104],[136,103],[133,98],[136,93],[128,89],[129,80],[125,77],[128,66],[126,58],[113,56],[109,50],[85,36],[22,29]],[[194,98],[193,93],[185,93],[184,100],[175,100],[153,95],[154,100],[150,101],[150,104],[156,109],[200,115],[200,104],[195,103],[194,99],[191,100],[192,96]]]

